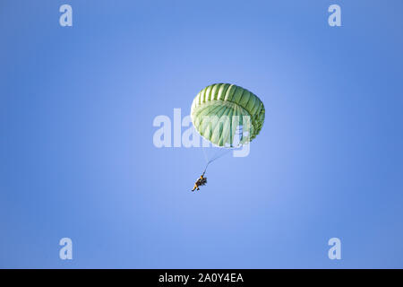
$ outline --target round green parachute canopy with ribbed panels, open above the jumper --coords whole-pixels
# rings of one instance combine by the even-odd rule
[[[214,83],[193,100],[193,126],[201,136],[219,147],[249,143],[264,122],[264,106],[253,92],[230,83]]]

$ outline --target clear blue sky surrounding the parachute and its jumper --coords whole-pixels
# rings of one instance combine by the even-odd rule
[[[0,267],[402,268],[402,11],[2,0]],[[201,149],[155,147],[152,122],[211,83],[253,91],[266,120],[192,193]]]

